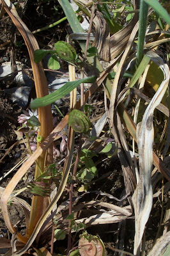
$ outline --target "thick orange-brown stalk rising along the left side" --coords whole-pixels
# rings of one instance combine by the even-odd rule
[[[47,95],[48,88],[47,88],[47,79],[45,77],[45,73],[43,71],[42,63],[35,63],[34,61],[34,51],[36,49],[39,49],[38,43],[36,42],[35,37],[29,31],[29,29],[26,27],[24,22],[20,19],[19,15],[17,14],[15,7],[13,6],[10,1],[1,0],[3,3],[4,9],[12,19],[13,23],[19,29],[22,37],[24,38],[24,41],[27,45],[27,50],[29,52],[29,57],[31,60],[31,66],[33,68],[33,76],[35,79],[35,88],[36,88],[36,96],[43,97]],[[39,121],[41,124],[40,132],[38,135],[41,135],[43,139],[45,139],[50,132],[52,131],[52,113],[50,106],[42,107],[38,109],[38,116]],[[38,157],[37,162],[43,171],[43,168],[46,165],[52,163],[52,146],[48,148],[47,150],[47,161],[45,161],[45,152],[41,154],[40,157]],[[40,171],[38,168],[36,168],[35,171],[35,179],[40,175]],[[33,232],[33,229],[36,226],[37,221],[39,220],[40,216],[42,216],[44,209],[47,207],[48,199],[43,198],[41,196],[33,196],[32,201],[32,207],[31,207],[31,218],[30,218],[30,225],[29,225],[29,232],[28,236],[31,235]],[[14,231],[14,230],[12,230]]]

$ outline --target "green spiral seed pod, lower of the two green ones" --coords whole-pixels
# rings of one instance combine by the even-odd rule
[[[89,127],[91,127],[89,118],[78,109],[73,109],[72,112],[70,112],[68,117],[68,124],[75,132],[86,133],[89,131]]]

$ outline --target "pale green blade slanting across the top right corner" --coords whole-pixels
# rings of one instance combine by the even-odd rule
[[[170,16],[167,10],[164,9],[164,7],[162,7],[162,5],[157,0],[144,0],[144,2],[150,5],[153,10],[155,10],[155,12],[157,12],[158,15],[160,15],[160,17],[162,17],[162,19],[164,19],[167,24],[170,25]]]

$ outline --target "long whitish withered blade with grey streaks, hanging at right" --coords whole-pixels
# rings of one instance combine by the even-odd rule
[[[164,81],[160,84],[157,92],[153,96],[148,108],[146,109],[143,121],[137,125],[137,144],[139,148],[139,183],[135,189],[132,200],[135,209],[135,241],[134,254],[136,255],[141,239],[143,237],[144,227],[150,216],[152,206],[152,186],[151,171],[153,165],[153,111],[160,104],[169,83],[169,68],[164,64],[163,60],[155,54],[148,52],[148,56],[152,61],[164,72]]]

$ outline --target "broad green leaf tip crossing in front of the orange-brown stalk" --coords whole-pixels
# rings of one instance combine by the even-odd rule
[[[52,104],[52,102],[55,102],[56,100],[59,100],[65,97],[65,95],[67,95],[68,93],[72,92],[72,90],[79,86],[81,83],[93,83],[96,79],[97,77],[92,76],[88,78],[79,79],[73,82],[67,82],[63,87],[59,88],[56,92],[53,92],[45,97],[33,100],[31,102],[31,108],[35,109]]]

